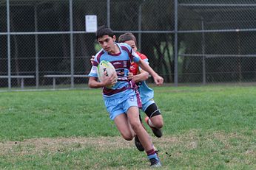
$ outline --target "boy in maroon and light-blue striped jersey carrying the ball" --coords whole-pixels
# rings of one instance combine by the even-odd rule
[[[89,87],[103,89],[103,98],[107,111],[110,113],[110,118],[115,122],[123,138],[132,140],[136,134],[146,151],[146,155],[151,163],[150,166],[161,166],[149,134],[144,130],[139,121],[137,97],[127,78],[131,64],[130,61],[138,63],[141,68],[149,72],[154,78],[156,85],[162,85],[164,79],[155,73],[148,64],[144,63],[129,45],[126,43],[115,43],[115,35],[109,27],[100,26],[96,32],[96,39],[102,49],[95,55],[95,60],[89,74]],[[110,77],[105,77],[102,82],[98,82],[97,66],[101,60],[110,61],[114,65],[115,70],[124,71],[124,76],[119,76],[116,83],[114,74]],[[109,85],[114,86],[106,88]]]

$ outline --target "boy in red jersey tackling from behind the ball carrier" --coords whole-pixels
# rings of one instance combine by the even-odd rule
[[[136,52],[139,57],[141,57],[141,60],[144,60],[149,64],[146,55],[137,52],[137,40],[132,33],[127,32],[123,35],[120,35],[118,42],[127,43],[132,47],[133,51]],[[149,78],[149,73],[139,68],[138,64],[135,62],[132,62],[130,66],[130,73],[131,74],[129,74],[129,79],[133,79],[139,85],[138,91],[141,96],[142,110],[144,113],[146,113],[146,124],[149,125],[156,137],[161,138],[163,135],[161,128],[164,125],[164,121],[160,110],[158,109],[158,106],[155,104],[153,99],[154,91],[152,88],[149,88],[149,86],[146,85],[146,79]]]

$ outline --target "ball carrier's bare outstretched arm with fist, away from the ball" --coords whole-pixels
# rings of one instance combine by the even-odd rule
[[[139,59],[137,63],[144,71],[148,72],[154,78],[156,85],[162,85],[163,77],[160,77],[144,60]]]

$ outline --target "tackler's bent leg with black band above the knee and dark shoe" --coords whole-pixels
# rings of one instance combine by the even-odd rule
[[[160,113],[160,110],[158,109],[158,106],[155,104],[155,102],[152,102],[146,107],[144,112],[146,113],[146,124],[148,124],[149,127],[152,129],[152,132],[155,136],[161,138],[161,136],[163,135],[161,128],[164,126],[164,120],[163,116]]]

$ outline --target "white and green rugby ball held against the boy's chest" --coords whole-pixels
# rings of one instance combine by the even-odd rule
[[[105,77],[110,77],[112,74],[116,75],[115,82],[118,81],[118,76],[115,72],[115,67],[110,63],[109,61],[102,60],[101,63],[98,64],[97,68],[97,74],[98,74],[98,79],[102,82]],[[114,85],[107,86],[107,88],[112,88]]]

